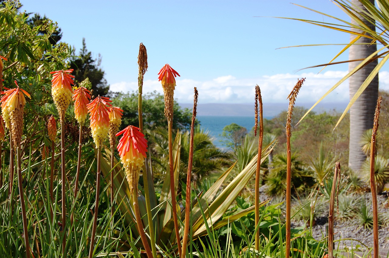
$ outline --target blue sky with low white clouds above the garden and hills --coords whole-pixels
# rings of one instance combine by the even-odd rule
[[[349,35],[269,17],[331,21],[290,2],[349,20],[329,0],[21,1],[22,10],[57,21],[62,41],[76,53],[85,38],[93,56],[102,56],[111,90],[137,90],[137,55],[143,42],[149,62],[144,92],[162,92],[157,74],[168,63],[181,75],[175,91],[179,102],[193,101],[193,87],[198,87],[199,103],[252,103],[257,83],[264,102],[286,102],[301,77],[307,79],[298,100],[313,102],[345,75],[347,64],[320,74],[319,68],[295,71],[328,62],[342,47],[277,48],[347,43]],[[345,59],[347,54],[339,60]],[[347,101],[347,87],[341,85],[325,101]],[[389,89],[385,69],[380,87]]]

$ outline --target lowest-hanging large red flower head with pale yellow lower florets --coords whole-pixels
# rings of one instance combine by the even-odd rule
[[[138,185],[139,173],[147,152],[147,140],[139,130],[138,127],[129,125],[116,134],[116,136],[123,134],[117,145],[117,150],[123,163],[131,194]]]

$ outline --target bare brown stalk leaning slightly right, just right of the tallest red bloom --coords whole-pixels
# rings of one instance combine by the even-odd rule
[[[198,100],[198,91],[195,87],[195,97],[193,99],[193,113],[192,113],[192,124],[191,124],[191,138],[189,144],[189,160],[188,160],[188,171],[186,174],[186,198],[185,198],[185,226],[184,234],[182,235],[182,257],[185,257],[186,246],[188,242],[189,235],[189,222],[191,220],[191,182],[192,182],[192,164],[193,164],[193,139],[195,136],[195,121],[197,114],[197,100]],[[178,242],[178,241],[177,241]]]

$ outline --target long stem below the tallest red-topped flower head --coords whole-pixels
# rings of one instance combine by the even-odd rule
[[[177,238],[177,247],[180,258],[182,258],[182,249],[181,249],[181,238],[180,230],[178,227],[178,218],[177,218],[177,204],[175,201],[175,182],[174,182],[174,169],[173,169],[173,144],[172,144],[172,119],[168,118],[168,130],[169,130],[169,169],[170,169],[170,193],[172,195],[172,213],[174,221],[174,230],[175,236]]]

